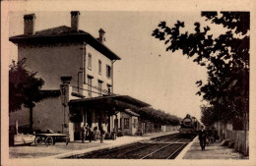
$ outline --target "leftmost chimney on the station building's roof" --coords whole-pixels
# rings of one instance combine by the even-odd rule
[[[24,34],[32,35],[34,34],[34,27],[35,27],[35,15],[25,15],[24,16]]]

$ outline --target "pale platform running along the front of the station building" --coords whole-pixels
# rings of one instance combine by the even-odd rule
[[[176,134],[178,131],[164,132],[164,133],[153,133],[141,136],[124,136],[116,138],[115,140],[104,139],[103,142],[86,140],[82,143],[81,140],[69,142],[66,146],[65,142],[56,142],[55,145],[29,145],[29,146],[10,146],[9,156],[10,158],[64,158],[70,155],[76,155],[86,153],[103,148],[114,148],[120,145],[125,145],[137,141],[146,141],[151,138],[157,138],[160,136]]]

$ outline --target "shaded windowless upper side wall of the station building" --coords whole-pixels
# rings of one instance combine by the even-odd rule
[[[62,76],[71,76],[71,84],[77,86],[78,72],[80,68],[83,68],[83,50],[81,48],[82,44],[19,47],[18,59],[27,58],[27,69],[38,72],[37,76],[45,82],[43,89],[59,89]]]

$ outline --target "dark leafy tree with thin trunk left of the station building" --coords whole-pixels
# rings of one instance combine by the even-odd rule
[[[45,96],[41,92],[44,81],[36,77],[36,72],[26,69],[26,59],[15,63],[13,61],[9,70],[9,113],[18,111],[22,105],[30,109],[30,128],[32,130],[32,108],[35,102]]]

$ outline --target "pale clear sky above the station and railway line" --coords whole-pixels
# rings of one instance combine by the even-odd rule
[[[114,93],[130,95],[180,118],[190,114],[200,120],[200,105],[205,102],[195,95],[196,82],[207,81],[206,69],[181,51],[166,52],[163,42],[152,36],[161,21],[169,27],[183,21],[185,29],[193,31],[195,22],[205,22],[200,12],[80,12],[80,29],[97,37],[103,28],[105,45],[121,57],[114,63]],[[31,13],[36,16],[36,31],[70,27],[69,12],[11,12],[9,36],[24,32],[23,16]],[[9,42],[9,48],[10,63],[17,58],[17,46]]]

